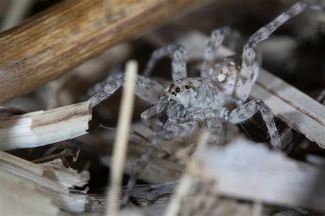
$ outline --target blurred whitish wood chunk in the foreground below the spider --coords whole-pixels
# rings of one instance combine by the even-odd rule
[[[198,164],[200,170],[194,172],[215,180],[222,195],[325,212],[325,172],[320,166],[238,139],[225,148],[206,149]]]

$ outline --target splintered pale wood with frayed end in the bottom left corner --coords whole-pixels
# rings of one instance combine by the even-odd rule
[[[64,167],[38,165],[0,151],[0,173],[0,204],[8,204],[0,208],[0,215],[18,214],[24,209],[30,215],[51,215],[58,208],[67,212],[85,211],[86,198],[69,189],[88,184],[88,171],[77,173]],[[16,208],[12,208],[14,204]]]

